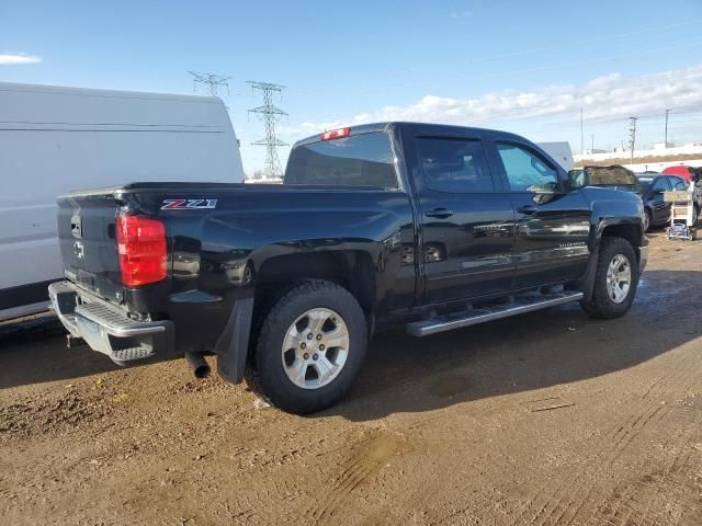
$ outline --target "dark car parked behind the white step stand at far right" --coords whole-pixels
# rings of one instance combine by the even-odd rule
[[[686,191],[690,187],[690,182],[678,175],[646,172],[638,174],[641,183],[641,198],[644,202],[644,228],[667,224],[670,220],[670,203],[664,201],[664,192],[673,190]],[[697,222],[702,205],[702,194],[699,188],[693,191],[694,211],[693,222]]]

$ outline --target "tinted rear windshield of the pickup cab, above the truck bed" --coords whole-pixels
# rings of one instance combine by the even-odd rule
[[[285,184],[396,188],[389,137],[378,132],[293,148],[285,169]]]

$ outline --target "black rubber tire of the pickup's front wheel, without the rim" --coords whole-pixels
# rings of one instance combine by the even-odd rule
[[[631,284],[626,297],[621,302],[615,302],[608,293],[607,273],[610,263],[616,255],[624,255],[629,260],[631,268]],[[597,272],[592,288],[592,297],[580,301],[580,307],[589,316],[600,319],[612,319],[624,316],[631,308],[638,286],[638,260],[634,248],[623,238],[602,238],[598,256]]]

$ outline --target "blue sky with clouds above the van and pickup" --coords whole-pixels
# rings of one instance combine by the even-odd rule
[[[230,76],[247,172],[263,151],[247,80],[287,87],[282,138],[385,118],[491,126],[580,149],[702,140],[702,0],[181,2],[0,0],[0,80],[192,93]],[[15,57],[7,58],[7,57]],[[3,60],[0,59],[0,64]],[[286,151],[281,151],[286,157]]]

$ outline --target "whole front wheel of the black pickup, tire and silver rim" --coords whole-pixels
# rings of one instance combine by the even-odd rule
[[[634,248],[622,238],[602,238],[592,297],[580,307],[595,318],[624,316],[638,285],[638,261]]]

